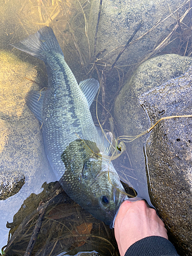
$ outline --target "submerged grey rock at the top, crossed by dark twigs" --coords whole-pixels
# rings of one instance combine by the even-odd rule
[[[88,21],[88,35],[90,37],[90,45],[94,46],[92,40],[95,35],[99,1],[93,1],[91,4],[92,8]],[[169,10],[175,11],[182,4],[182,0],[144,0],[142,2],[132,0],[103,0],[98,29],[97,53],[105,49],[106,51],[100,57],[106,55],[104,59],[113,63],[122,49],[122,45],[126,44],[139,23],[143,22],[142,27],[139,29],[134,39],[154,27],[159,20],[164,20],[164,18],[169,16]],[[143,56],[154,49],[155,45],[158,45],[157,42],[159,39],[168,35],[173,28],[170,24],[173,23],[175,23],[174,17],[169,16],[154,30],[137,41],[136,44],[130,45],[121,55],[118,64],[133,65],[138,62],[139,59],[141,60]]]

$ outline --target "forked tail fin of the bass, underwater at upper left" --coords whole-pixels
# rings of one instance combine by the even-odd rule
[[[44,60],[43,53],[47,51],[55,51],[63,55],[52,28],[47,26],[12,46],[41,60]]]

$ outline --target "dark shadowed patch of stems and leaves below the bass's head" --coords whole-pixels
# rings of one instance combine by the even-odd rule
[[[37,208],[32,203],[34,200],[39,202]],[[12,227],[12,237],[6,253],[31,253],[32,243],[35,245],[32,255],[36,256],[41,253],[51,255],[53,251],[69,251],[84,243],[90,249],[99,248],[100,252],[108,251],[112,255],[115,251],[117,253],[109,226],[74,203],[58,182],[44,184],[44,191],[40,195],[31,196],[24,203],[26,208],[30,208],[30,214],[21,207],[12,225],[8,224]],[[20,220],[20,215],[23,215],[23,220]],[[14,225],[17,226],[16,230],[13,230]],[[29,240],[32,242],[30,245]]]

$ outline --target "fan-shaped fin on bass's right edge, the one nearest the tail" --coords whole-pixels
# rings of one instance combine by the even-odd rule
[[[88,101],[89,108],[99,89],[99,82],[94,78],[86,79],[79,83],[79,87]]]

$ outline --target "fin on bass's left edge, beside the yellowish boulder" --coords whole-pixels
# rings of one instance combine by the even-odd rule
[[[26,104],[40,123],[42,123],[42,105],[45,93],[46,91],[30,91],[26,96]]]

